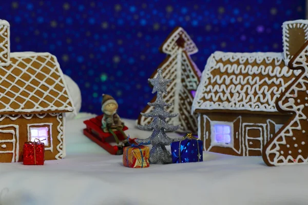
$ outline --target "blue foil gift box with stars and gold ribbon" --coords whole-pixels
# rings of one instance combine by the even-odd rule
[[[203,161],[203,142],[199,139],[183,139],[171,143],[172,163]]]

